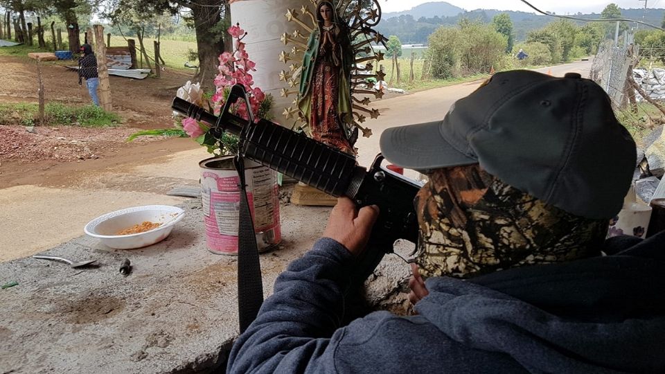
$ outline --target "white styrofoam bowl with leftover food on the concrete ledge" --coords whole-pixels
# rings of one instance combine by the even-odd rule
[[[121,209],[106,213],[88,222],[83,231],[88,235],[99,238],[108,247],[115,249],[134,249],[147,247],[161,240],[171,233],[173,226],[184,217],[185,213],[177,206],[145,205]],[[145,221],[161,223],[150,231],[130,235],[116,235],[119,231],[129,229],[135,224]]]

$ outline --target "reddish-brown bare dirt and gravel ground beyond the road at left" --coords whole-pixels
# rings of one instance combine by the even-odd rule
[[[85,88],[78,85],[67,62],[43,62],[46,103],[80,106],[90,103]],[[76,64],[76,62],[69,62]],[[37,103],[37,66],[19,57],[0,56],[0,103]],[[0,125],[0,188],[33,184],[49,175],[62,185],[68,170],[98,169],[125,161],[150,159],[156,150],[196,148],[194,142],[141,138],[125,139],[136,130],[172,126],[170,103],[177,87],[191,79],[181,71],[162,71],[161,78],[133,80],[110,77],[113,111],[123,118],[118,127],[89,129],[76,126],[37,126],[32,132],[17,119],[15,125]],[[160,153],[160,154],[163,154]],[[58,176],[62,181],[58,181]],[[62,183],[59,183],[62,182]]]

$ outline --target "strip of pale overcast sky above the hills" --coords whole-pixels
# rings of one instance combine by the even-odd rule
[[[382,0],[381,8],[384,12],[399,12],[409,10],[422,3],[435,2],[436,0]],[[527,0],[531,5],[542,11],[555,12],[558,15],[583,13],[600,13],[605,6],[615,3],[619,8],[644,8],[644,1],[640,0]],[[535,12],[520,0],[447,0],[445,1],[465,10],[475,9],[497,9],[497,10],[520,10],[523,12]],[[664,8],[665,0],[647,0],[648,8]]]

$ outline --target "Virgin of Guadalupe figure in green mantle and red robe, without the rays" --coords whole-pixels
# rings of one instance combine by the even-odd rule
[[[321,1],[315,14],[317,27],[303,57],[298,107],[312,139],[355,154],[358,129],[351,125],[354,57],[348,28],[330,1]]]

